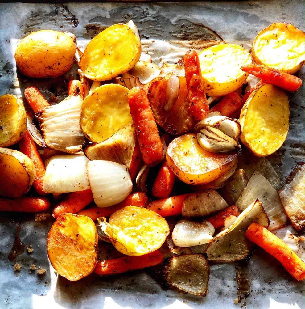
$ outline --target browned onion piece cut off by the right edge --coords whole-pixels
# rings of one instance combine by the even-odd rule
[[[286,178],[279,196],[294,228],[302,230],[305,227],[305,162],[299,162]]]

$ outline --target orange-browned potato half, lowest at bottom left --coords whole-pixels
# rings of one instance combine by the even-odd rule
[[[62,214],[47,238],[49,260],[60,276],[76,281],[93,272],[97,263],[98,235],[87,216]]]

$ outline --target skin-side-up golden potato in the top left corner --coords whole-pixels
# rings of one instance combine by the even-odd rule
[[[76,44],[65,33],[41,30],[19,42],[15,60],[21,73],[28,77],[56,77],[70,70],[75,51]]]

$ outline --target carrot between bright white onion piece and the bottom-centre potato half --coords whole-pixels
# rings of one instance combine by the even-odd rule
[[[84,210],[81,210],[78,214],[87,216],[93,221],[96,221],[99,217],[109,217],[115,211],[125,206],[139,206],[147,207],[148,197],[144,192],[131,193],[126,199],[117,205],[110,207],[90,207]]]

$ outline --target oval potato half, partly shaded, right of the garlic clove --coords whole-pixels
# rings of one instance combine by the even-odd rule
[[[289,101],[286,93],[271,84],[258,87],[241,110],[241,142],[258,157],[273,154],[286,140]]]

